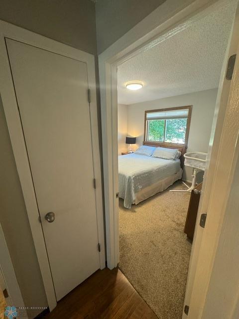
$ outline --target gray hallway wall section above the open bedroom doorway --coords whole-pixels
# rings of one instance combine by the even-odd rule
[[[99,0],[96,2],[98,54],[166,0]]]

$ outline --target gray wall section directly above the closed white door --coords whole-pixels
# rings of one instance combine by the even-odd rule
[[[91,0],[0,0],[0,19],[97,53],[95,4]]]

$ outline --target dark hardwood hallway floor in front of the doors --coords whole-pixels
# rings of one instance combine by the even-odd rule
[[[119,269],[98,270],[44,319],[157,319]]]

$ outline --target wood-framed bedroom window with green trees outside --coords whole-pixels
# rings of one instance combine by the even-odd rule
[[[145,111],[144,140],[187,145],[192,106]]]

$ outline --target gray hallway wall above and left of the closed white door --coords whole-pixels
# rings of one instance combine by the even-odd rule
[[[91,0],[0,0],[0,19],[96,54]],[[0,223],[25,305],[44,307],[45,291],[1,102],[0,150]]]

